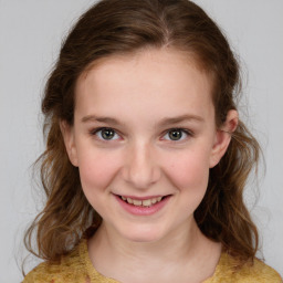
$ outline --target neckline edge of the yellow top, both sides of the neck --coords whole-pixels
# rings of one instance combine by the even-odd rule
[[[91,283],[94,283],[94,282],[120,283],[119,281],[117,281],[115,279],[107,277],[107,276],[101,274],[94,268],[94,265],[91,261],[91,258],[90,258],[88,249],[87,249],[87,239],[82,240],[78,249],[80,249],[80,258],[82,259],[83,263],[85,264],[86,273],[91,280]],[[221,270],[221,266],[224,264],[226,255],[227,255],[226,252],[222,251],[213,274],[210,277],[202,281],[202,283],[212,283],[212,280],[218,276],[218,274]]]

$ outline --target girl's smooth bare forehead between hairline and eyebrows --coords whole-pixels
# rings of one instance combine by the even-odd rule
[[[155,113],[158,109],[159,114],[164,111],[175,115],[186,109],[211,108],[211,88],[210,76],[188,53],[143,50],[95,62],[77,81],[75,108],[111,108],[120,115],[133,108],[137,113],[155,108]]]

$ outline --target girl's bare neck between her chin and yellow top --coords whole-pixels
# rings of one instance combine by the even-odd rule
[[[105,276],[122,282],[144,282],[147,274],[147,282],[167,282],[181,274],[181,269],[187,274],[206,262],[203,258],[211,256],[210,243],[193,219],[186,228],[180,227],[155,242],[129,241],[103,223],[90,240],[88,250],[94,266]]]

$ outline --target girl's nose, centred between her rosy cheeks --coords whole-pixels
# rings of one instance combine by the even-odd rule
[[[161,171],[153,146],[138,144],[127,149],[123,167],[124,180],[135,188],[148,189],[160,179]]]

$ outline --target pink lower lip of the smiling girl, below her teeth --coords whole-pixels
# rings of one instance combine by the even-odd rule
[[[118,196],[115,196],[116,200],[119,202],[119,205],[130,214],[134,216],[151,216],[154,213],[157,213],[159,210],[161,210],[166,203],[169,201],[170,196],[164,198],[161,201],[153,205],[151,207],[137,207],[134,205],[130,205],[124,200],[122,200]]]

